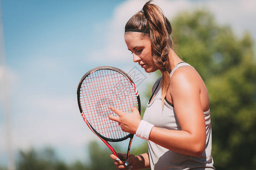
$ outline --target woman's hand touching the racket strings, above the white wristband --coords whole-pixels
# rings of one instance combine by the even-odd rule
[[[136,134],[139,123],[141,122],[141,115],[137,108],[131,108],[132,113],[125,113],[111,106],[109,108],[119,116],[116,117],[109,114],[110,120],[117,121],[123,131]]]

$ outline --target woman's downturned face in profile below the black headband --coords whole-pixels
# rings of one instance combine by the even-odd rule
[[[129,32],[125,33],[125,42],[128,50],[133,54],[133,61],[138,62],[146,73],[159,69],[152,59],[149,36],[142,37],[140,32]]]

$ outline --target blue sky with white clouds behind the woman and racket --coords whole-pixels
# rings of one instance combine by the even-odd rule
[[[137,66],[123,41],[123,27],[145,2],[1,0],[15,152],[53,146],[61,159],[86,158],[86,143],[96,138],[80,116],[77,84],[96,66],[115,66],[126,72]],[[256,40],[253,0],[154,2],[168,18],[183,10],[208,8],[218,23],[231,25],[239,36],[249,31]],[[151,74],[145,76],[145,82],[154,81]],[[0,165],[7,162],[5,135],[1,108]]]

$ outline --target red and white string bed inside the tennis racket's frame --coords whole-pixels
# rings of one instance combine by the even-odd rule
[[[80,104],[86,120],[98,133],[106,138],[121,139],[129,133],[108,118],[108,114],[118,116],[109,106],[131,113],[131,107],[138,107],[138,100],[126,76],[113,70],[97,70],[82,82]]]

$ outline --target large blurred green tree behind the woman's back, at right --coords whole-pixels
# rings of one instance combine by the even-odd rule
[[[208,87],[217,169],[253,169],[256,165],[256,64],[249,33],[242,39],[212,14],[183,12],[171,21],[176,52]]]

